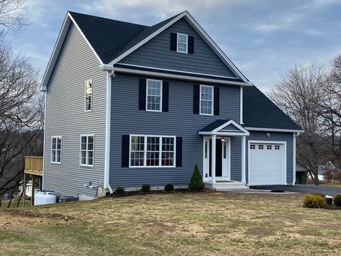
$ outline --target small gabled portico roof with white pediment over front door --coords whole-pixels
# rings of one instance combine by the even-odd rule
[[[233,119],[217,119],[200,129],[201,135],[249,136],[249,132]]]

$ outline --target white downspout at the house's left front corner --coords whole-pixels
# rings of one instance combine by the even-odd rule
[[[105,160],[104,160],[104,188],[108,188],[112,194],[112,187],[109,184],[109,167],[110,167],[110,127],[112,112],[112,77],[114,77],[114,69],[107,71],[107,97],[106,97],[106,114],[105,114]]]

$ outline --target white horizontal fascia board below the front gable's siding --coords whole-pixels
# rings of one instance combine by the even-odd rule
[[[114,68],[114,71],[120,72],[120,73],[136,74],[136,75],[151,75],[151,76],[156,76],[158,78],[173,78],[173,79],[181,79],[181,80],[189,80],[189,81],[212,82],[212,83],[217,83],[217,84],[222,84],[222,85],[252,86],[252,85],[246,85],[244,82],[217,80],[217,79],[211,79],[211,78],[197,78],[197,77],[192,77],[189,75],[173,75],[173,74],[168,74],[168,73],[160,73],[160,72],[145,71],[145,70],[132,70],[129,68]]]

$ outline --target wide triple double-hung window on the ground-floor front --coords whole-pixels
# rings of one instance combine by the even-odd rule
[[[130,167],[175,166],[175,137],[131,135]]]

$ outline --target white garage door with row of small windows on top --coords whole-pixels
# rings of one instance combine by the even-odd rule
[[[285,144],[249,142],[249,186],[284,185]]]

